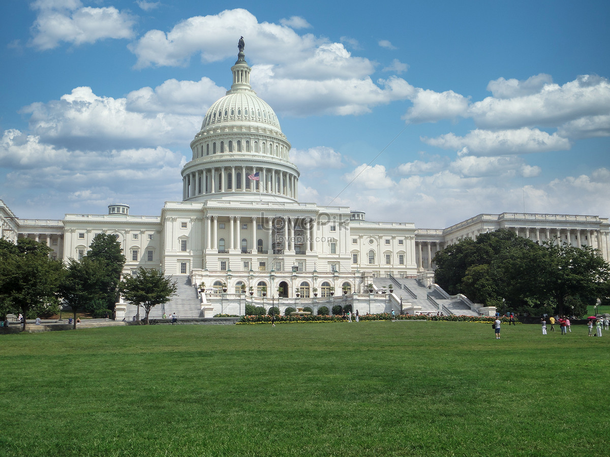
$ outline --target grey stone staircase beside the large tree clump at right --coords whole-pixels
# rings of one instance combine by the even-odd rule
[[[415,306],[421,306],[423,314],[436,314],[439,311],[447,314],[447,310],[451,314],[478,316],[476,311],[472,311],[470,306],[462,302],[460,299],[446,299],[440,292],[428,289],[416,279],[409,278],[392,278],[392,283],[395,285],[394,294],[403,299],[403,303],[411,303]],[[428,300],[428,296],[434,300]],[[437,307],[435,302],[440,306]]]

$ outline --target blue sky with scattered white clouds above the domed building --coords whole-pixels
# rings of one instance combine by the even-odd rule
[[[422,228],[610,216],[608,2],[37,0],[0,17],[0,198],[21,218],[180,200],[240,35],[303,202]]]

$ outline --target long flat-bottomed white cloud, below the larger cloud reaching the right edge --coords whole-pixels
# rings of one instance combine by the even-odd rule
[[[557,133],[549,135],[538,129],[472,130],[465,136],[447,133],[437,138],[422,138],[431,146],[443,149],[461,149],[461,155],[512,155],[534,152],[565,151],[570,141]]]

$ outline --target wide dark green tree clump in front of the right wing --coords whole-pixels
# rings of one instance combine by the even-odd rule
[[[537,244],[504,229],[452,244],[434,263],[436,282],[447,292],[502,313],[581,316],[610,278],[610,266],[591,247]]]

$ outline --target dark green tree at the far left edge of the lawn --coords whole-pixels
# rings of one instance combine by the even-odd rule
[[[26,319],[57,308],[57,291],[63,275],[60,261],[49,258],[51,249],[30,238],[17,244],[0,239],[0,302],[4,312],[23,314]]]

